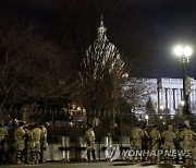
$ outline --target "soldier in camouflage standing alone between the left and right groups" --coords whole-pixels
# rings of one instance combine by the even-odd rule
[[[90,124],[88,130],[86,131],[85,137],[86,137],[87,159],[90,160],[90,153],[91,153],[93,159],[96,160],[95,132],[93,130],[93,124]]]

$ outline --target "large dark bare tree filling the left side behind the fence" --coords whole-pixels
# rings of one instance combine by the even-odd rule
[[[21,23],[1,22],[1,106],[65,99],[73,89],[71,55]]]

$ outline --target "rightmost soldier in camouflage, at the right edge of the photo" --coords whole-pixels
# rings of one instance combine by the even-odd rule
[[[184,124],[180,136],[183,140],[183,149],[187,153],[184,165],[194,165],[193,148],[196,134],[191,130],[189,125]]]

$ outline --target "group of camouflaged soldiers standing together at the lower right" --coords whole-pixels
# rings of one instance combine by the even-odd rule
[[[131,146],[136,151],[149,149],[158,152],[161,147],[163,152],[182,149],[188,152],[188,155],[183,157],[184,165],[194,165],[194,141],[196,140],[196,133],[191,130],[189,125],[184,124],[180,127],[177,131],[173,131],[172,125],[168,125],[167,130],[162,133],[159,132],[158,125],[154,125],[152,130],[148,133],[147,128],[139,128],[138,124],[131,131]],[[150,145],[148,142],[150,141]],[[177,157],[177,156],[176,156]],[[137,158],[139,159],[139,158]],[[173,165],[173,156],[164,155],[164,164]],[[158,156],[151,156],[151,164],[159,161]]]

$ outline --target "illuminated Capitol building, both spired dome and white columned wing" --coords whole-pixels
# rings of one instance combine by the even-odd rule
[[[86,50],[86,57],[84,58],[85,68],[90,67],[90,61],[94,60],[93,77],[97,79],[100,70],[105,69],[106,64],[110,62],[109,73],[114,68],[122,70],[124,62],[121,60],[119,50],[111,44],[106,35],[107,28],[103,25],[103,19],[101,15],[100,26],[97,28],[97,39]],[[118,62],[118,63],[117,63]],[[100,69],[101,68],[101,69]],[[124,74],[123,74],[124,75]],[[135,77],[136,81],[140,79]],[[84,80],[83,80],[84,81]],[[152,92],[143,97],[145,100],[143,107],[136,107],[133,109],[135,113],[146,112],[146,104],[150,99],[156,113],[167,111],[170,115],[182,113],[183,108],[183,79],[142,79],[147,81],[151,85]],[[196,80],[193,79],[193,86],[189,94],[189,110],[192,113],[196,113]],[[148,88],[147,88],[148,89]]]

